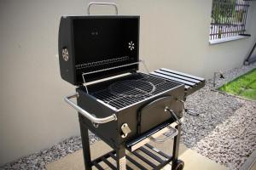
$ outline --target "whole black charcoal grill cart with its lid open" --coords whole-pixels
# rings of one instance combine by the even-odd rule
[[[117,12],[114,3],[90,3],[89,14],[94,4],[113,5]],[[160,169],[171,161],[172,169],[183,168],[183,161],[177,157],[188,87],[165,75],[138,71],[143,62],[138,57],[139,19],[119,15],[61,17],[61,77],[77,86],[76,93],[65,100],[79,112],[86,169],[103,169],[102,162],[111,169]],[[202,87],[203,83],[200,80],[190,88]],[[113,150],[91,160],[88,130]],[[170,135],[159,139],[163,133]],[[174,139],[172,156],[148,144],[168,139]]]

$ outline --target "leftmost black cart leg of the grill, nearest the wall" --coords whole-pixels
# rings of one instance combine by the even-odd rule
[[[86,170],[91,170],[88,128],[83,125],[83,122],[80,122],[80,132],[83,144],[84,167]]]

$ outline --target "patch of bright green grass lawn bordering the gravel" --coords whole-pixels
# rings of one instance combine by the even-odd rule
[[[222,87],[218,88],[218,90],[228,94],[238,95],[243,98],[256,100],[256,69],[224,84]]]

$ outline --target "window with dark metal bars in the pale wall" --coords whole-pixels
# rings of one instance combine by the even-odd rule
[[[212,0],[210,40],[246,36],[247,0]]]

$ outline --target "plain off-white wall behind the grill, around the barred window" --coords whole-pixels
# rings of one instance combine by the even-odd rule
[[[211,77],[242,65],[256,40],[256,5],[247,20],[252,37],[208,44],[212,0],[119,0],[119,14],[141,15],[140,56],[160,67]],[[61,80],[57,54],[62,14],[85,14],[83,0],[0,1],[0,165],[79,135],[75,111],[63,101],[74,91]],[[92,8],[113,14],[112,8]],[[254,10],[253,10],[254,9]]]

